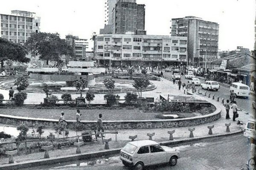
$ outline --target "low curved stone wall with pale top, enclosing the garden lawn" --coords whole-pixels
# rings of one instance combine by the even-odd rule
[[[145,113],[146,114],[146,113]],[[204,116],[183,118],[183,119],[166,119],[166,120],[129,120],[129,121],[103,121],[104,129],[150,129],[150,128],[172,128],[201,125],[213,122],[221,118],[221,109]],[[67,121],[69,129],[76,129],[76,121]],[[58,125],[55,119],[36,119],[20,116],[9,116],[0,114],[0,123],[8,125],[20,125],[25,123],[29,127],[44,126],[53,128]],[[96,125],[96,121],[81,121],[81,129],[86,130]]]

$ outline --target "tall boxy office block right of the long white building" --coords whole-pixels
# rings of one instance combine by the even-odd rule
[[[201,18],[188,16],[172,19],[172,36],[188,38],[189,65],[202,65],[217,58],[218,23],[204,21]]]

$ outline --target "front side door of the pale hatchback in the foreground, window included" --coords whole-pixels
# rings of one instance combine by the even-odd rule
[[[166,151],[160,145],[150,145],[150,164],[161,164],[167,161]]]

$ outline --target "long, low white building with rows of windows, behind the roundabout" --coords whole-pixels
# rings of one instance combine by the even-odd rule
[[[132,33],[132,32],[131,32]],[[186,65],[187,37],[136,34],[99,34],[94,54],[99,64]]]

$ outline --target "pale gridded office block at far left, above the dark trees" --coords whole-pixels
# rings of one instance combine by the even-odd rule
[[[40,31],[40,17],[34,12],[14,10],[0,17],[0,37],[9,41],[24,44],[33,32]]]

